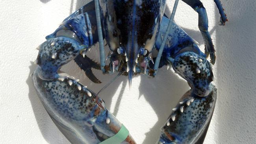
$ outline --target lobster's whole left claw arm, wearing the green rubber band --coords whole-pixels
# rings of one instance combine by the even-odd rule
[[[85,54],[92,44],[88,41],[89,35],[78,31],[86,26],[80,23],[83,18],[78,15],[63,22],[37,48],[35,63],[38,66],[32,74],[33,85],[47,113],[71,143],[99,144],[122,130],[124,136],[120,143],[135,144],[127,129],[108,112],[101,98],[98,98],[98,105],[93,91],[59,70],[78,55]],[[76,27],[77,23],[80,28]]]

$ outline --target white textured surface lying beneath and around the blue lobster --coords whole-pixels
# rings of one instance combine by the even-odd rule
[[[213,0],[202,0],[208,12],[209,29],[217,51],[214,66],[218,98],[206,144],[234,144],[256,141],[256,1],[223,0],[229,22],[218,26]],[[0,144],[69,144],[59,132],[32,86],[31,62],[35,48],[58,24],[85,0],[1,0],[0,1]],[[170,4],[171,8],[173,2]],[[180,2],[175,16],[200,48],[198,16]],[[74,69],[74,70],[73,70]],[[78,66],[64,70],[97,92],[113,76],[96,75],[104,82],[94,85]],[[189,89],[171,70],[159,70],[154,79],[137,76],[129,91],[121,77],[101,95],[107,107],[125,124],[138,144],[153,144],[178,99]]]

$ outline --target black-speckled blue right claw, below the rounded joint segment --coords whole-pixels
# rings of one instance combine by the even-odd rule
[[[210,120],[211,115],[215,107],[215,102],[217,98],[217,89],[214,85],[210,84],[209,88],[211,90],[209,96],[204,98],[193,98],[191,90],[187,91],[183,98],[182,104],[178,104],[176,111],[172,114],[175,115],[175,120],[171,120],[170,125],[162,127],[163,133],[169,134],[175,138],[178,138],[182,143],[191,143],[194,138],[200,137],[200,131],[206,126]],[[188,106],[187,101],[193,98],[193,102]],[[184,106],[183,113],[180,112],[179,107]],[[171,115],[172,115],[171,114]]]

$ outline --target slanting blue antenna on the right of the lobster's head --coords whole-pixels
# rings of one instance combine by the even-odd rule
[[[162,56],[162,53],[163,53],[163,48],[164,48],[164,46],[166,44],[167,37],[168,37],[168,35],[170,33],[170,30],[171,30],[171,28],[173,26],[173,19],[174,19],[174,15],[176,13],[178,2],[179,2],[179,0],[175,0],[174,6],[173,6],[173,12],[171,14],[171,18],[169,20],[169,24],[168,24],[167,30],[165,32],[165,36],[163,37],[163,41],[161,43],[160,49],[158,50],[158,55],[156,57],[156,61],[155,61],[155,65],[154,65],[155,73],[157,73],[157,70],[158,70],[158,67],[159,67],[159,63],[160,63],[160,59],[161,59],[161,56]]]

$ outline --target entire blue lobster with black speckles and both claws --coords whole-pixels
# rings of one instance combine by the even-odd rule
[[[202,143],[213,114],[217,89],[211,65],[215,50],[208,32],[208,19],[199,0],[182,0],[198,13],[198,26],[205,42],[205,53],[196,42],[164,14],[166,0],[95,0],[67,17],[54,33],[46,36],[37,49],[38,65],[33,84],[46,111],[72,144],[135,144],[128,130],[105,107],[98,94],[79,83],[61,66],[74,60],[94,83],[100,83],[91,68],[104,74],[153,78],[158,68],[172,65],[191,89],[161,127],[157,143]],[[214,0],[227,21],[219,0]],[[105,58],[103,40],[110,51]],[[100,65],[86,56],[99,42]],[[152,52],[157,56],[152,56]],[[206,57],[210,55],[211,63]],[[109,59],[109,65],[105,64]],[[116,78],[117,78],[116,77]]]

